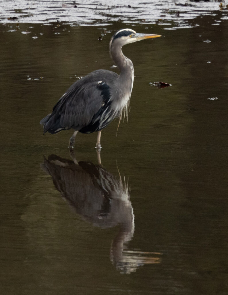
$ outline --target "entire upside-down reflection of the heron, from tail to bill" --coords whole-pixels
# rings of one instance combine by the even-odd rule
[[[101,165],[77,163],[76,160],[74,163],[56,155],[44,158],[41,167],[51,175],[56,189],[83,219],[101,228],[119,224],[110,251],[117,269],[131,273],[145,263],[160,262],[159,257],[144,257],[143,252],[126,250],[124,243],[134,234],[134,214],[125,181],[115,178]]]

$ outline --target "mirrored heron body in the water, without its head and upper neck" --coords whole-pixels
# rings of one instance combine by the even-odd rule
[[[101,165],[75,164],[56,155],[44,158],[44,165],[56,189],[84,219],[102,228],[125,224],[126,231],[134,231],[133,209],[121,179]]]

